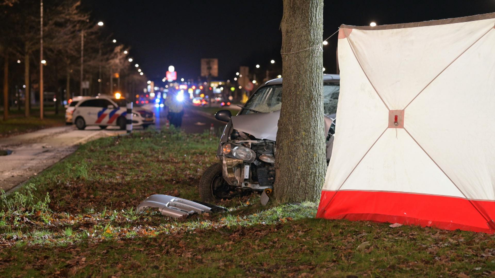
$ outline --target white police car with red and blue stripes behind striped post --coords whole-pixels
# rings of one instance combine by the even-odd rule
[[[72,119],[80,130],[84,130],[87,126],[99,126],[102,129],[107,126],[118,126],[121,130],[125,130],[126,103],[124,98],[107,96],[83,99],[76,104]],[[143,107],[134,107],[132,114],[133,126],[142,126],[146,129],[156,120],[154,113]]]

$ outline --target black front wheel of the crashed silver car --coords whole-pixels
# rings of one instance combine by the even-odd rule
[[[199,180],[199,195],[205,202],[234,197],[237,195],[235,191],[223,179],[221,163],[215,163],[206,168]]]

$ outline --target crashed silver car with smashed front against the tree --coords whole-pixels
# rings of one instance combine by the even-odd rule
[[[324,74],[327,162],[332,154],[339,92],[340,76]],[[220,161],[204,171],[199,183],[203,201],[231,198],[252,190],[266,193],[273,190],[281,100],[282,78],[278,78],[260,86],[237,116],[232,116],[229,110],[215,114],[216,119],[228,123],[218,145]]]

